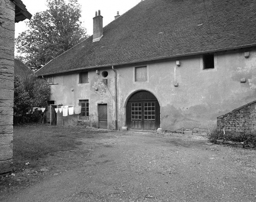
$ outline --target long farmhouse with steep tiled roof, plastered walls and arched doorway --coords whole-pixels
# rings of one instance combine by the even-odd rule
[[[216,125],[255,100],[255,13],[253,0],[144,0],[102,27],[97,12],[92,36],[36,72],[51,86],[50,122],[141,131]]]

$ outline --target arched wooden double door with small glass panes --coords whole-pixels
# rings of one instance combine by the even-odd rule
[[[135,92],[126,105],[126,125],[129,130],[156,131],[160,126],[160,106],[148,91]]]

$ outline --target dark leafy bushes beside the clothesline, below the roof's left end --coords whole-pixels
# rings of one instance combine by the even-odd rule
[[[31,114],[32,107],[47,107],[50,88],[44,79],[28,75],[22,79],[14,77],[13,123],[36,121],[39,117]]]

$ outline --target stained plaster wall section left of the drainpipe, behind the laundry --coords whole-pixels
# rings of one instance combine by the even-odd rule
[[[107,71],[108,76],[102,77],[102,72]],[[107,79],[108,88],[102,79]],[[54,75],[54,84],[51,86],[51,100],[56,104],[78,106],[79,100],[89,100],[89,121],[85,125],[98,127],[98,105],[107,104],[108,128],[115,129],[115,94],[114,71],[109,69],[91,70],[88,72],[88,83],[79,83],[79,73],[68,75]],[[110,92],[111,91],[111,92]],[[111,94],[112,93],[112,94]],[[58,114],[60,115],[60,114]],[[63,117],[64,125],[77,125],[77,114]]]

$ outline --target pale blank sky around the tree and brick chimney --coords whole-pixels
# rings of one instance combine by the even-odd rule
[[[95,17],[95,11],[101,10],[101,15],[103,16],[103,27],[112,22],[115,19],[117,11],[122,15],[138,3],[141,0],[78,0],[81,5],[81,19],[87,30],[88,35],[93,34],[93,17]],[[44,11],[47,9],[46,0],[22,0],[23,4],[26,5],[28,12],[33,15],[35,13]],[[15,23],[15,38],[22,32],[28,29],[26,22],[29,20],[24,20],[22,22]]]

